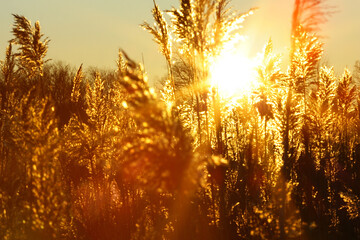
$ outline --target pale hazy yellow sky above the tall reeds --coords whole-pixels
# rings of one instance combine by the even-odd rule
[[[156,0],[162,10],[179,6],[179,0]],[[259,9],[244,23],[244,55],[254,57],[271,38],[284,59],[290,42],[293,0],[232,0],[239,13]],[[325,43],[324,60],[335,65],[337,74],[352,69],[360,60],[360,0],[328,0],[336,13],[321,26]],[[136,61],[144,61],[150,81],[166,75],[166,63],[149,33],[139,25],[153,23],[152,0],[0,0],[0,59],[12,38],[13,16],[32,23],[40,21],[42,32],[51,39],[48,57],[74,67],[115,69],[118,50]]]

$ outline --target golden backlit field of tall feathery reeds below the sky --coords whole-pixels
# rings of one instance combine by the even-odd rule
[[[227,96],[221,79],[238,78],[217,64],[237,54],[254,9],[154,2],[155,24],[141,26],[167,62],[159,91],[123,50],[115,71],[45,64],[39,23],[14,15],[0,62],[0,236],[359,239],[359,64],[342,76],[322,65],[324,2],[295,0],[288,66],[269,40],[253,77],[235,72],[252,88]]]

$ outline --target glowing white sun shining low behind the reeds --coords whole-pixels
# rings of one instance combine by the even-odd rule
[[[210,67],[210,84],[218,88],[222,98],[249,94],[256,84],[255,60],[239,51],[223,52]]]

